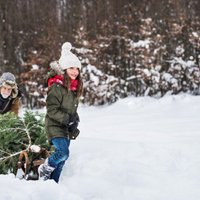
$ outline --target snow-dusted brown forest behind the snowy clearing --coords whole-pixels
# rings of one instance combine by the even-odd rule
[[[16,74],[29,108],[45,104],[49,63],[69,41],[82,102],[200,94],[199,0],[0,0],[0,74]]]

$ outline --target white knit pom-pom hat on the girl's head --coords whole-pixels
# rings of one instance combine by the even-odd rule
[[[71,52],[72,45],[69,42],[65,42],[62,45],[61,57],[59,59],[59,65],[62,70],[70,67],[77,67],[81,70],[81,62],[78,57]]]

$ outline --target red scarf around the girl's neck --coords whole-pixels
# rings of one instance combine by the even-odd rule
[[[63,75],[56,75],[54,77],[49,78],[47,82],[48,82],[48,88],[50,88],[50,86],[53,83],[64,85],[64,77],[63,77]],[[78,80],[70,80],[69,89],[71,91],[76,91],[77,88],[78,88]]]

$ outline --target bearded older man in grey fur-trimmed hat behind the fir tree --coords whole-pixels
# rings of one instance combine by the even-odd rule
[[[21,94],[18,91],[15,76],[5,72],[0,77],[0,114],[19,113]]]

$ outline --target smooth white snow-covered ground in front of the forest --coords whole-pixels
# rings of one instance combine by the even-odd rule
[[[59,184],[0,175],[1,200],[199,200],[200,96],[79,108]]]

